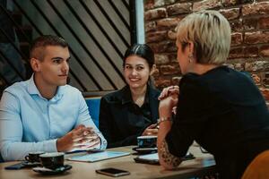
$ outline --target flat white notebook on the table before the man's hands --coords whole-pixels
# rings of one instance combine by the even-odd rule
[[[82,161],[82,162],[97,162],[100,160],[110,159],[110,158],[119,158],[130,155],[130,152],[122,151],[101,151],[99,153],[84,154],[82,156],[74,156],[67,158],[68,160],[73,161]]]

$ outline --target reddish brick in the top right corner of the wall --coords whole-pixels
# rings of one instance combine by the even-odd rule
[[[269,2],[246,4],[242,6],[242,15],[259,15],[269,13]]]

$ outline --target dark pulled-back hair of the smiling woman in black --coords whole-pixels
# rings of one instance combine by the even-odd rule
[[[147,63],[150,66],[150,69],[152,69],[152,66],[154,64],[154,52],[152,51],[152,48],[149,47],[146,44],[134,44],[133,46],[129,47],[126,50],[126,54],[124,56],[124,66],[126,64],[126,58],[130,55],[138,55],[145,59]]]

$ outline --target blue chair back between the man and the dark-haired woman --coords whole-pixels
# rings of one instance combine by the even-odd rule
[[[99,128],[100,97],[85,98],[93,123]]]

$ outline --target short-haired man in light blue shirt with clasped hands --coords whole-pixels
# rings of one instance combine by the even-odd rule
[[[70,59],[63,38],[42,36],[30,48],[33,75],[4,90],[0,103],[0,151],[5,161],[30,151],[106,149],[82,93],[66,85]]]

